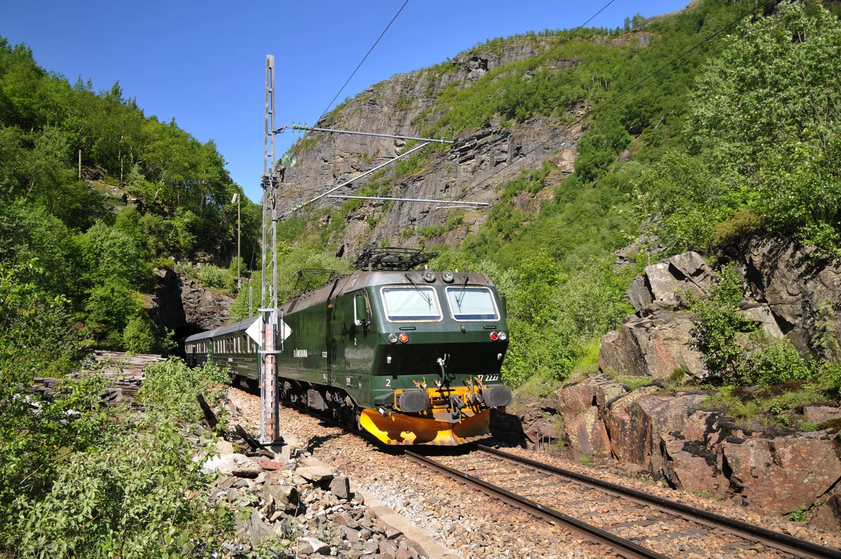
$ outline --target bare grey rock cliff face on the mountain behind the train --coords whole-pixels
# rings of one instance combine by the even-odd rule
[[[498,51],[486,49],[458,56],[448,63],[449,67],[445,65],[443,68],[439,66],[394,76],[343,104],[325,117],[320,125],[341,130],[421,136],[422,130],[441,116],[435,102],[445,90],[452,92],[453,88],[469,88],[487,72],[512,61],[536,56],[546,48],[547,41],[543,39],[513,40]],[[561,61],[550,69],[563,72],[573,65],[573,61]],[[503,77],[508,75],[502,74]],[[550,140],[556,134],[558,136]],[[420,172],[396,179],[393,188],[380,195],[455,199],[464,194],[464,200],[493,203],[497,185],[504,184],[521,169],[540,167],[543,160],[553,154],[553,164],[558,173],[572,173],[579,135],[579,128],[561,130],[558,125],[542,118],[505,127],[493,121],[482,130],[458,136],[456,143],[448,149],[429,155]],[[540,145],[542,147],[532,152]],[[314,133],[299,144],[298,164],[286,173],[279,205],[286,210],[290,205],[309,200],[396,157],[405,152],[406,147],[405,141],[401,140]],[[526,155],[527,152],[531,153]],[[387,169],[393,173],[394,167]],[[487,180],[491,175],[494,175],[493,179]],[[362,178],[336,194],[353,194],[367,181],[368,178]],[[314,207],[337,209],[341,202],[320,200]],[[383,238],[389,239],[392,245],[416,246],[417,230],[426,226],[442,226],[451,213],[452,210],[442,210],[429,204],[366,202],[346,218],[332,217],[346,219],[346,223],[341,232],[331,238],[331,242],[336,246],[344,245],[345,253],[350,255],[364,245]],[[461,240],[468,230],[478,228],[486,214],[486,211],[469,210],[461,226],[432,239],[428,244]],[[329,219],[322,218],[320,226],[328,226]]]

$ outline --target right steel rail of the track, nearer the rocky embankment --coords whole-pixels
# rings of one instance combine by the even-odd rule
[[[567,477],[575,482],[582,483],[589,487],[594,487],[602,492],[608,492],[617,497],[627,498],[636,503],[653,506],[659,508],[664,512],[677,514],[690,519],[693,522],[705,524],[714,528],[727,530],[728,532],[738,535],[741,538],[757,541],[766,546],[774,547],[780,551],[791,553],[795,556],[809,557],[810,559],[841,559],[841,551],[834,550],[827,546],[813,543],[812,541],[801,540],[793,535],[783,534],[775,530],[769,530],[755,524],[749,524],[743,520],[732,519],[722,514],[712,513],[703,508],[696,508],[688,504],[678,503],[677,501],[670,501],[667,498],[658,497],[644,491],[632,489],[631,487],[624,487],[616,483],[606,482],[598,477],[587,476],[577,471],[565,470],[558,466],[551,466],[544,464],[530,458],[513,455],[502,450],[497,450],[485,445],[475,445],[476,448],[482,452],[499,456],[505,460],[531,466],[532,468],[555,474],[558,476]]]

